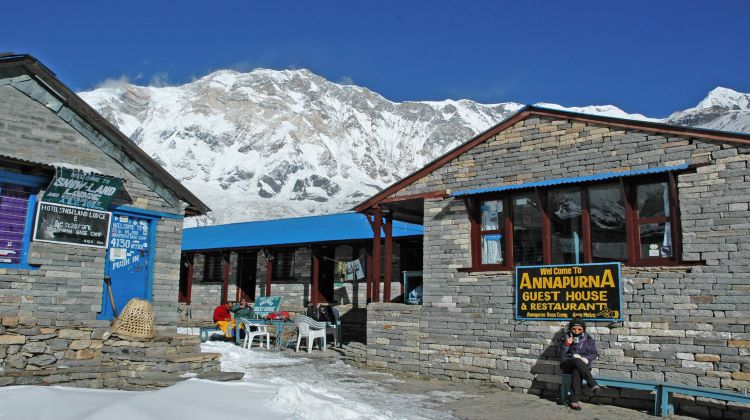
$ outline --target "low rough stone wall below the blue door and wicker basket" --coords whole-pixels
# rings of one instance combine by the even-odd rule
[[[0,319],[0,386],[67,385],[152,389],[221,369],[217,353],[201,353],[197,336],[160,334],[139,340],[107,337],[109,323],[38,327]]]

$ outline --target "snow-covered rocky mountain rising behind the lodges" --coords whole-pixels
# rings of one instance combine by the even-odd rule
[[[192,224],[346,211],[522,107],[397,103],[308,70],[266,69],[172,87],[111,83],[81,97],[213,209]]]

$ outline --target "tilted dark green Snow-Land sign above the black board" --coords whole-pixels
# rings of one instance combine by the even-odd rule
[[[79,170],[57,168],[55,178],[47,187],[41,201],[107,210],[117,191],[122,188],[122,180]]]

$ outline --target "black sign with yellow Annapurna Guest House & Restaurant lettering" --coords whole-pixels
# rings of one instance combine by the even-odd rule
[[[622,320],[620,263],[516,267],[516,319]]]

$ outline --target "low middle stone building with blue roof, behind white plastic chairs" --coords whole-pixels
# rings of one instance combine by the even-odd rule
[[[421,235],[420,225],[393,224],[392,278],[422,269]],[[185,229],[181,323],[211,323],[220,303],[253,302],[256,296],[281,296],[281,309],[297,313],[308,303],[337,305],[342,312],[364,308],[370,296],[367,277],[342,277],[337,263],[358,260],[363,274],[370,274],[372,248],[371,223],[357,213]],[[400,281],[391,283],[394,300],[401,299],[402,287]]]

